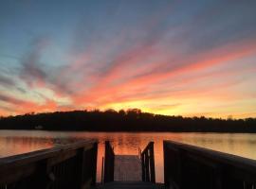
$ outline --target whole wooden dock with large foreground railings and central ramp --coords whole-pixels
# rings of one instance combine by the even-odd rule
[[[115,155],[105,143],[96,184],[96,141],[56,146],[0,159],[0,189],[255,189],[256,161],[164,141],[164,184],[155,183],[154,143],[139,156]],[[139,158],[138,158],[139,157]]]

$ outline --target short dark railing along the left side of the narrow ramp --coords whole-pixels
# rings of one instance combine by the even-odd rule
[[[105,159],[104,159],[104,180],[103,182],[114,181],[115,153],[114,148],[109,141],[105,141]]]

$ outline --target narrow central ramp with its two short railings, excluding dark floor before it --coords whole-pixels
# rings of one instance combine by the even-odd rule
[[[154,142],[136,155],[115,155],[114,148],[105,142],[105,157],[101,182],[147,181],[155,183]]]

